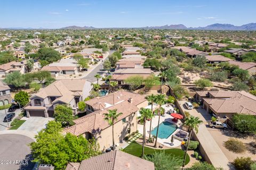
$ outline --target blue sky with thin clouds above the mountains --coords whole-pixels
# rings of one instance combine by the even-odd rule
[[[145,27],[256,22],[255,0],[1,0],[0,28]]]

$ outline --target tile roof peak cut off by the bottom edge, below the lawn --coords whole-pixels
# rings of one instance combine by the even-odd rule
[[[76,170],[154,170],[154,163],[139,157],[114,150],[98,156],[85,159]],[[71,170],[67,169],[66,170]]]

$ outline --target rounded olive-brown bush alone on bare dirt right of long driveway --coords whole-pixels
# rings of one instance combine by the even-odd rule
[[[244,143],[235,139],[235,138],[230,138],[227,141],[225,141],[224,146],[229,151],[232,151],[232,152],[235,152],[235,153],[241,153],[241,152],[245,151]]]

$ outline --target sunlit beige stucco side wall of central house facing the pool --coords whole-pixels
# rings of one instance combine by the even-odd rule
[[[124,137],[129,134],[128,129],[130,128],[130,133],[137,131],[137,114],[131,114],[126,117],[126,122],[122,120],[114,124],[114,140],[115,144],[120,143]],[[100,150],[106,150],[112,144],[112,126],[109,126],[105,130],[102,130],[100,133],[94,135],[94,138],[97,139],[97,142],[100,145]]]

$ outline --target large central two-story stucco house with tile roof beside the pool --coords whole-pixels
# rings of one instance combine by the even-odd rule
[[[105,113],[113,109],[117,109],[117,113],[123,113],[114,124],[115,143],[120,143],[127,134],[137,131],[139,109],[148,106],[144,96],[124,90],[85,103],[87,115],[74,120],[76,124],[64,131],[77,136],[83,135],[86,139],[95,138],[100,150],[106,150],[112,145],[112,126],[104,119]]]

